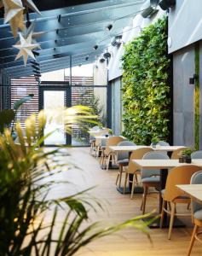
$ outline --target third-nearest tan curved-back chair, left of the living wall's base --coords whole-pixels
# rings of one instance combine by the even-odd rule
[[[117,146],[118,143],[123,142],[124,138],[120,136],[112,136],[107,139],[106,148],[103,150],[103,165],[107,165],[107,170],[109,168],[109,163],[116,162],[116,153],[113,152],[109,147]]]

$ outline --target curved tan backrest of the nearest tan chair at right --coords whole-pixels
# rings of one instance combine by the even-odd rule
[[[174,201],[177,197],[184,195],[176,185],[189,184],[193,173],[200,169],[201,167],[194,165],[177,166],[171,169],[165,184],[164,200]]]

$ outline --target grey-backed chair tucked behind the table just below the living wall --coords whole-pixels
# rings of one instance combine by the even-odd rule
[[[124,141],[124,142],[118,143],[118,146],[136,146],[136,143],[132,143],[130,141]],[[118,152],[117,162],[118,162],[119,170],[118,170],[118,174],[117,174],[116,185],[118,183],[118,186],[120,188],[122,174],[124,172],[123,167],[129,165],[129,152]]]

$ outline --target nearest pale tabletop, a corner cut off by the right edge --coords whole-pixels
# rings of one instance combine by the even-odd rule
[[[176,185],[176,187],[188,194],[194,201],[202,202],[202,184]]]

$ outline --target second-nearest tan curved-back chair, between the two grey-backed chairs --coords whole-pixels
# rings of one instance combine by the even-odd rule
[[[133,175],[132,181],[129,181],[129,182],[132,183],[131,199],[133,198],[135,185],[138,183],[137,175],[141,174],[141,172],[136,169],[136,166],[134,165],[132,160],[134,160],[134,159],[142,159],[144,154],[146,154],[147,152],[150,152],[150,151],[153,151],[153,149],[152,148],[138,148],[138,149],[134,150],[132,152],[132,154],[130,154],[129,166],[124,166],[124,172],[125,172],[124,193],[125,193],[128,177],[129,177],[130,174]]]

